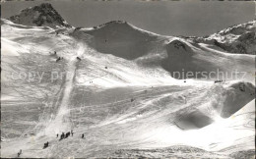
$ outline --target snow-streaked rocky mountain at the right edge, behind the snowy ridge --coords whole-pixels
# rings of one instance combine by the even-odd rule
[[[214,44],[224,51],[238,54],[256,54],[256,21],[224,28],[206,37],[196,37],[196,42]]]

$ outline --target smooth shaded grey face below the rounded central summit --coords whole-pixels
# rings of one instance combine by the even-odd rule
[[[98,52],[112,54],[128,60],[133,60],[150,52],[157,41],[162,39],[157,34],[141,30],[122,22],[113,21],[92,29],[78,29],[93,36],[89,44]]]

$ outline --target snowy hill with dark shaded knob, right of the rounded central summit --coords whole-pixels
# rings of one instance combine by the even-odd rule
[[[197,45],[181,38],[171,40],[165,48],[167,58],[161,61],[161,66],[175,79],[243,79],[254,82],[255,60],[252,55],[225,54],[208,45]]]

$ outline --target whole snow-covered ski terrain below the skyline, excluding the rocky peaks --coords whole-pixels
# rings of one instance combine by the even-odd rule
[[[1,30],[1,157],[252,156],[255,55],[119,21]]]

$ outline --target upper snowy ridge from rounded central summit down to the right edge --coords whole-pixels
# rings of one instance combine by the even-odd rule
[[[243,79],[254,82],[253,55],[230,55],[212,49],[210,45],[160,36],[126,22],[77,28],[70,35],[87,42],[100,53],[133,60],[144,68],[163,68],[174,79]],[[187,73],[192,75],[182,76]]]

